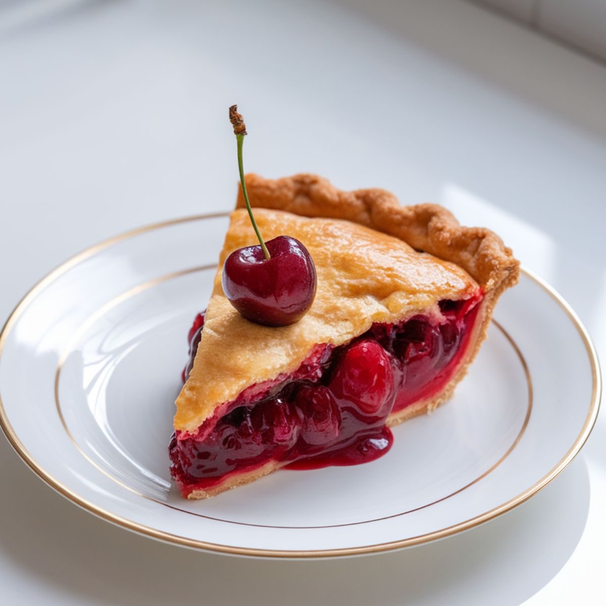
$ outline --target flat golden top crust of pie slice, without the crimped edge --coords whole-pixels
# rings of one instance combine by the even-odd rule
[[[303,242],[318,274],[316,298],[296,324],[249,322],[227,300],[222,265],[237,248],[255,244],[244,209],[231,214],[195,364],[177,399],[175,428],[193,432],[252,384],[295,371],[316,344],[342,345],[375,322],[439,315],[441,299],[467,298],[478,284],[458,267],[420,254],[393,236],[341,219],[303,218],[259,208],[264,238],[287,234]]]

